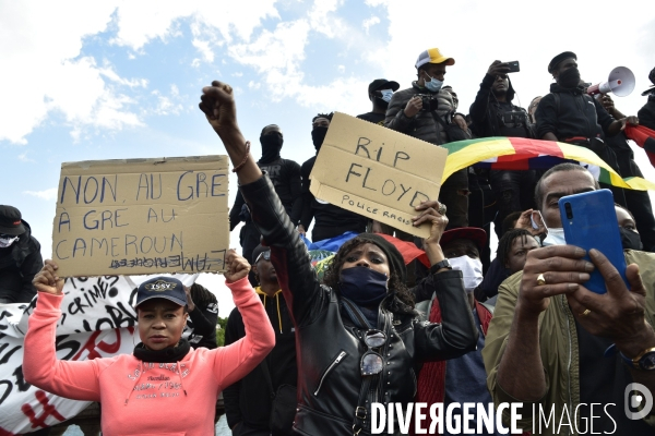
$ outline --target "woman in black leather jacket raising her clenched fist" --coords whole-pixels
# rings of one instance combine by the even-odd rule
[[[203,88],[200,109],[235,165],[252,220],[271,246],[271,261],[296,329],[298,408],[294,429],[305,435],[370,434],[371,403],[414,399],[422,362],[475,350],[477,330],[461,271],[439,245],[448,218],[437,202],[416,207],[414,225],[430,225],[426,252],[442,324],[421,323],[405,288],[405,264],[382,237],[362,233],[345,243],[321,284],[305,243],[273,185],[246,147],[229,85]]]

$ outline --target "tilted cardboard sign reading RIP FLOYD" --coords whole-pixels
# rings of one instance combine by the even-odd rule
[[[310,179],[319,199],[427,238],[412,226],[415,206],[437,199],[448,152],[393,130],[335,112]]]

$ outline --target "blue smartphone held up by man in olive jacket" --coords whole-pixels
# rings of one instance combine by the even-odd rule
[[[598,190],[567,195],[559,199],[559,209],[567,244],[580,246],[587,253],[592,249],[598,250],[617,268],[630,289],[626,278],[626,257],[611,191]],[[588,254],[585,259],[591,262]],[[605,279],[598,268],[594,269],[584,287],[596,293],[607,292]]]

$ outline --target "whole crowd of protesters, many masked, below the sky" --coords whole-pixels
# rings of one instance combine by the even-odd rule
[[[570,51],[552,58],[550,93],[535,97],[527,110],[513,104],[513,65],[493,61],[465,114],[453,88],[443,86],[455,59],[431,48],[418,56],[410,87],[374,80],[368,87],[372,109],[358,118],[434,146],[496,136],[565,142],[594,152],[623,178],[641,177],[623,130],[628,124],[655,130],[655,69],[638,119],[623,116],[608,95],[587,95],[576,61]],[[128,405],[139,380],[115,378],[148,362],[200,367],[189,377],[178,367],[174,376],[188,386],[183,396],[148,412],[147,424],[138,426],[142,434],[207,434],[214,416],[201,403],[215,401],[221,389],[235,435],[368,435],[371,404],[414,401],[443,403],[444,410],[450,403],[522,402],[522,428],[534,428],[535,404],[553,408],[555,416],[569,413],[575,423],[538,434],[586,433],[582,423],[599,433],[655,434],[655,411],[638,420],[623,413],[630,384],[655,391],[655,218],[646,192],[603,185],[571,162],[528,170],[465,168],[443,182],[438,198],[416,206],[414,225],[430,228],[427,239],[418,239],[315,198],[309,175],[317,157],[301,165],[282,158],[284,135],[276,124],[263,128],[255,161],[238,128],[229,85],[203,88],[200,109],[239,179],[230,229],[245,222],[242,257],[231,254],[226,274],[237,301],[226,347],[202,351],[214,342],[207,326],[216,320],[206,290],[184,292],[176,282],[170,294],[148,296],[145,283],[139,288],[142,343],[134,355],[78,362],[73,372],[53,355],[61,281],[56,264],[47,262],[34,279],[48,295],[38,300],[26,337],[29,383],[68,398],[100,400],[106,434],[139,421],[142,403]],[[317,155],[331,122],[332,113],[311,120]],[[604,187],[616,202],[630,287],[602,253],[591,251],[585,261],[587,253],[567,245],[563,235],[558,199]],[[7,233],[0,243],[28,230],[17,210],[10,213],[14,220],[0,222]],[[490,244],[492,223],[497,250]],[[354,232],[321,276],[307,252],[310,228],[314,242]],[[400,247],[407,245],[425,252],[427,261],[406,262]],[[606,294],[584,287],[595,269]],[[204,315],[199,301],[210,305]],[[189,316],[194,329],[184,337],[180,320]],[[37,359],[43,350],[47,359]],[[203,371],[212,379],[206,386],[195,382]],[[593,403],[616,407],[598,416]],[[174,409],[176,422],[193,425],[160,422]],[[463,420],[461,412],[449,419]],[[421,426],[429,424],[428,419]],[[476,434],[502,434],[501,424]]]

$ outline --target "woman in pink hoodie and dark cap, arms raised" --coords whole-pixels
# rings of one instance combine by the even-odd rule
[[[98,401],[103,435],[213,435],[218,392],[254,368],[275,344],[269,317],[248,281],[250,265],[234,251],[225,279],[243,315],[246,337],[215,350],[182,339],[187,296],[182,283],[156,277],[139,287],[141,343],[133,354],[60,361],[55,351],[63,280],[46,261],[34,278],[39,291],[25,336],[23,372],[34,386],[73,400]]]

